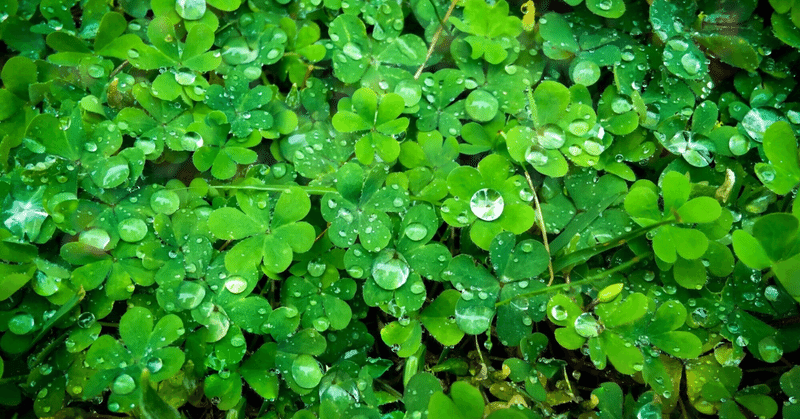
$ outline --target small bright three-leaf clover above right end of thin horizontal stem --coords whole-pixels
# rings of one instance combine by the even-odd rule
[[[378,95],[362,87],[353,93],[352,100],[339,101],[338,112],[331,123],[339,132],[364,133],[356,142],[356,157],[361,163],[372,164],[377,156],[382,162],[394,162],[400,155],[400,144],[392,138],[408,127],[408,118],[398,118],[405,102],[400,95]]]

